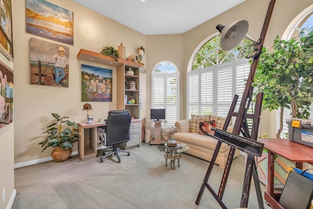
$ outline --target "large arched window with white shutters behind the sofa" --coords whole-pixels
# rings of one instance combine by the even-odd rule
[[[212,114],[227,116],[234,94],[241,95],[250,64],[245,57],[253,51],[252,42],[244,39],[224,51],[219,33],[203,41],[195,50],[187,72],[187,116]],[[240,99],[237,106],[240,104]]]

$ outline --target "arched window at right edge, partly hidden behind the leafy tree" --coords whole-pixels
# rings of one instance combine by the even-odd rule
[[[313,30],[313,5],[302,11],[288,26],[282,39],[291,40],[292,38],[300,39],[300,31],[312,31]],[[279,129],[279,115],[280,111],[277,112],[277,130]],[[310,106],[310,118],[313,119],[313,104]],[[291,117],[291,110],[285,108],[284,109],[284,126],[282,133],[280,135],[281,138],[286,138],[288,134],[288,124],[285,122],[287,118]]]

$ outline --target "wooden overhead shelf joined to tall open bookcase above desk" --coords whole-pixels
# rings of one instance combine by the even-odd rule
[[[115,67],[115,80],[118,81],[116,94],[114,93],[116,95],[116,108],[117,110],[126,109],[129,111],[131,116],[134,116],[135,119],[139,119],[139,79],[140,72],[144,71],[144,68],[141,64],[120,58],[115,59],[113,57],[86,49],[80,49],[77,54],[77,59]],[[134,75],[129,75],[126,73],[129,68],[134,70]],[[125,82],[127,80],[134,81],[136,83],[136,90],[125,89]],[[130,96],[134,96],[135,104],[125,104],[125,95],[127,95],[127,101],[131,99]]]

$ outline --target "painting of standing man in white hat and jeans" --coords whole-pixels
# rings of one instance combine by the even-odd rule
[[[30,38],[30,84],[68,87],[69,47]]]

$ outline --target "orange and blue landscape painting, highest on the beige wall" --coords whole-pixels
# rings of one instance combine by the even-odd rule
[[[73,45],[74,13],[45,0],[26,0],[26,32]]]

